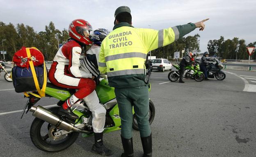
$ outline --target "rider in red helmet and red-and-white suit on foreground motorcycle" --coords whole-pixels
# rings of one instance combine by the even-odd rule
[[[112,155],[112,151],[103,145],[106,110],[99,103],[98,96],[94,90],[96,87],[96,83],[93,80],[95,76],[79,69],[83,47],[92,44],[89,38],[90,34],[92,34],[91,24],[85,20],[76,19],[69,24],[68,31],[71,38],[57,51],[49,70],[48,78],[56,86],[76,89],[77,91],[62,104],[58,114],[77,119],[78,116],[71,111],[71,107],[73,104],[83,100],[93,115],[92,126],[95,144],[91,150],[101,155]]]

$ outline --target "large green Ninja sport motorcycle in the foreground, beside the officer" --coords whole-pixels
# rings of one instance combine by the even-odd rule
[[[121,118],[119,116],[119,108],[114,94],[114,88],[109,86],[107,80],[101,78],[95,90],[100,103],[103,104],[107,111],[103,132],[108,133],[120,130]],[[149,91],[151,91],[150,84]],[[48,109],[42,106],[34,106],[40,100],[40,97],[36,96],[36,92],[25,94],[26,97],[29,98],[29,101],[23,110],[23,114],[27,108],[27,112],[31,111],[33,113],[32,115],[36,117],[30,128],[30,138],[37,148],[46,152],[57,152],[71,146],[78,138],[79,133],[82,133],[82,137],[94,135],[91,125],[92,114],[85,102],[81,101],[73,105],[72,111],[79,117],[76,120],[57,114],[59,107],[74,92],[74,90],[59,88],[51,83],[47,83],[46,97],[55,97],[60,100],[57,103],[58,106]],[[149,100],[149,124],[153,122],[154,117],[155,106],[153,102]],[[135,115],[133,118],[133,128],[138,130]]]

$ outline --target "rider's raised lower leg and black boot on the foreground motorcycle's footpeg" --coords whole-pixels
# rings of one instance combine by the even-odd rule
[[[66,102],[64,102],[64,104],[62,104],[62,107],[59,108],[58,114],[66,115],[71,119],[78,119],[78,115],[75,115],[75,113],[72,112],[71,107],[79,100],[80,99],[75,97],[75,95],[72,95]]]

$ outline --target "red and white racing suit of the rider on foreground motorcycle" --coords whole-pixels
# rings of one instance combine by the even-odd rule
[[[99,103],[96,83],[91,79],[92,74],[80,70],[80,56],[82,48],[75,40],[69,40],[59,48],[53,59],[53,64],[48,73],[51,83],[62,88],[78,89],[62,105],[64,109],[83,99],[92,112],[92,126],[95,133],[101,133],[105,124],[105,108]]]

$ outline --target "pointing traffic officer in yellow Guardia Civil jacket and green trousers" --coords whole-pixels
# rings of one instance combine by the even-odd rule
[[[115,25],[101,44],[98,65],[101,73],[107,73],[109,85],[115,88],[122,124],[124,153],[121,157],[133,157],[133,106],[144,151],[143,157],[151,157],[149,88],[144,82],[146,55],[151,50],[171,44],[198,27],[203,30],[203,22],[208,19],[158,31],[134,28],[129,7],[117,8],[114,15]]]

